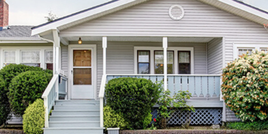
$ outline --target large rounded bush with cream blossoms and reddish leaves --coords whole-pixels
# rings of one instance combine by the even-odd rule
[[[226,106],[242,121],[268,117],[268,55],[244,54],[223,69],[222,94]]]

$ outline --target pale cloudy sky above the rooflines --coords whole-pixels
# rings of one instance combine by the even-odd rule
[[[110,0],[6,0],[9,25],[37,26],[46,23],[49,12],[58,18],[85,10]],[[240,0],[268,12],[268,0]]]

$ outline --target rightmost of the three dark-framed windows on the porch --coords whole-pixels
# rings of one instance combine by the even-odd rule
[[[179,74],[191,74],[191,52],[190,51],[178,51],[179,56]]]

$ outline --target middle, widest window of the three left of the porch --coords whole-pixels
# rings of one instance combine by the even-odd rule
[[[21,64],[40,67],[40,51],[21,51]]]

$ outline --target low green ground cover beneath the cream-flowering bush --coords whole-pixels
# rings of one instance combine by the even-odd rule
[[[268,130],[268,121],[228,122],[226,127],[234,130]]]

